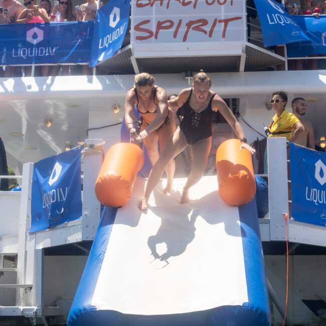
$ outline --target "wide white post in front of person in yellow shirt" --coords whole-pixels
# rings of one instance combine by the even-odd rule
[[[267,138],[268,203],[270,240],[285,240],[285,214],[288,215],[286,138]]]

